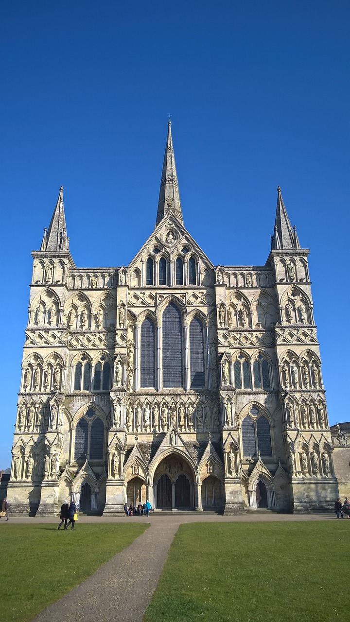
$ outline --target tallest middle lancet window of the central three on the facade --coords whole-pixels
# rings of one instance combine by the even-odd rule
[[[182,321],[173,302],[163,313],[163,386],[182,387]]]

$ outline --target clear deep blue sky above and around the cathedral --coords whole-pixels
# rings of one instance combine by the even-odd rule
[[[281,186],[311,249],[331,424],[349,420],[335,344],[349,348],[335,332],[349,314],[349,2],[2,0],[0,13],[0,468],[31,251],[59,187],[77,266],[128,264],[154,227],[169,113],[185,225],[214,264],[265,263]]]

